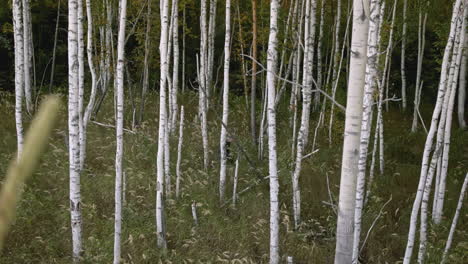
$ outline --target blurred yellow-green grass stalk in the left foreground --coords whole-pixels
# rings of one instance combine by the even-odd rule
[[[15,158],[8,168],[0,192],[0,253],[15,217],[16,205],[21,199],[23,183],[39,165],[40,156],[47,147],[49,136],[57,121],[59,107],[58,96],[48,96],[44,100],[29,127],[21,157]]]

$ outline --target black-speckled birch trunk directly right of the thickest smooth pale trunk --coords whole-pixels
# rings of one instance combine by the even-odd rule
[[[364,206],[365,179],[367,166],[367,153],[369,148],[369,138],[372,128],[372,110],[374,104],[374,91],[377,86],[378,67],[378,43],[379,21],[380,21],[380,0],[371,0],[369,19],[369,40],[367,49],[366,78],[363,98],[363,114],[361,121],[361,138],[359,144],[358,176],[356,185],[356,207],[354,209],[354,241],[352,263],[358,263],[359,242],[361,234],[361,218]]]

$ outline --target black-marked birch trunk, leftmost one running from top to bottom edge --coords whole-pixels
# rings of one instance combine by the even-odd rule
[[[68,1],[68,134],[70,160],[70,213],[73,260],[78,262],[82,250],[80,150],[78,112],[78,1]]]

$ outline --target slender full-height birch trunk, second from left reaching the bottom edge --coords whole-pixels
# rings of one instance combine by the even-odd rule
[[[89,1],[89,0],[88,0]],[[115,153],[115,222],[114,222],[114,264],[120,263],[122,234],[122,174],[123,174],[123,122],[124,122],[124,66],[125,66],[125,25],[127,20],[127,0],[120,1],[119,34],[117,40],[117,118]]]

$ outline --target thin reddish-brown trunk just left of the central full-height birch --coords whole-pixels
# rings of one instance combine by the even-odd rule
[[[252,142],[256,143],[256,111],[257,99],[257,0],[252,0],[252,81],[250,83],[250,129]],[[254,61],[255,60],[255,61]]]

